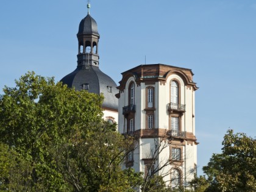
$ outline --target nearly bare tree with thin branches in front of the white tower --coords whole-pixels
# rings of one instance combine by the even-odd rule
[[[154,138],[154,147],[148,155],[148,159],[151,161],[147,165],[148,171],[144,175],[141,191],[185,191],[181,185],[181,180],[185,178],[185,174],[193,174],[194,169],[188,170],[183,175],[174,176],[175,169],[171,169],[171,167],[174,165],[182,166],[182,163],[176,160],[178,156],[180,157],[180,154],[176,154],[177,157],[160,158],[160,155],[163,156],[166,149],[169,149],[172,139],[167,132],[165,137]],[[165,178],[164,180],[166,176],[168,179]],[[174,186],[173,183],[176,183],[176,185]]]

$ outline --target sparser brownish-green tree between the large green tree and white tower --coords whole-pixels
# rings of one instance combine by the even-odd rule
[[[76,191],[133,191],[140,185],[140,172],[121,169],[133,139],[116,132],[116,124],[101,124],[86,142],[74,140],[59,149],[57,167]]]

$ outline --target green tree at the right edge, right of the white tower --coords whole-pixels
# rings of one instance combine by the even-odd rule
[[[222,153],[203,167],[210,186],[206,191],[256,191],[256,140],[228,130]]]

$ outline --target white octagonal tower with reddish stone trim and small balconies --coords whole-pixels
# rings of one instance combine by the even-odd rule
[[[192,71],[157,64],[137,66],[122,74],[118,131],[133,135],[138,143],[124,166],[144,172],[145,177],[150,172],[161,175],[172,187],[186,186],[197,164],[197,87]]]

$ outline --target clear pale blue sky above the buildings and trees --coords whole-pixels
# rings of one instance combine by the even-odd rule
[[[76,68],[85,0],[0,2],[0,89],[27,71],[56,80]],[[91,0],[100,68],[118,84],[137,65],[193,69],[199,174],[227,129],[255,137],[256,1]],[[2,91],[0,91],[0,94]]]

